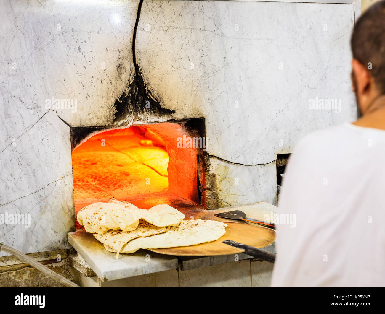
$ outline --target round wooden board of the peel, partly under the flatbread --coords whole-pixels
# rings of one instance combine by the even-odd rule
[[[259,225],[226,222],[226,233],[216,241],[174,248],[159,248],[149,251],[177,256],[213,256],[243,253],[245,250],[222,243],[233,240],[256,248],[263,248],[275,240],[274,230]]]

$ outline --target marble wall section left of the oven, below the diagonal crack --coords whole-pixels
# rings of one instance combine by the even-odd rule
[[[67,233],[75,218],[69,139],[69,127],[49,111],[0,153],[0,214],[8,222],[10,215],[24,218],[23,225],[1,226],[5,244],[23,253],[70,248]]]

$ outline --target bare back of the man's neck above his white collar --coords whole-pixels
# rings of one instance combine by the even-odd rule
[[[376,98],[363,116],[353,124],[385,130],[385,95]]]

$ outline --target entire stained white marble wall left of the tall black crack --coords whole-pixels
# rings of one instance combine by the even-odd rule
[[[0,242],[24,253],[70,247],[68,125],[112,123],[115,99],[133,78],[138,3],[0,3],[0,213],[31,219],[30,228],[0,225]],[[77,99],[77,111],[47,110],[52,97]]]

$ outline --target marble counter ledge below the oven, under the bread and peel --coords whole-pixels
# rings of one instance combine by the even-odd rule
[[[179,210],[181,209],[179,208]],[[221,208],[219,212],[229,210],[242,210],[247,216],[259,220],[263,220],[265,214],[276,213],[276,207],[266,202]],[[188,208],[185,215],[192,215],[194,219],[213,219],[212,215],[215,212],[218,212],[218,210],[206,211],[201,208],[194,208],[194,210]],[[237,221],[219,217],[216,217],[216,219],[224,222]],[[243,221],[238,222],[245,223]],[[171,256],[157,254],[148,250],[139,250],[132,254],[120,254],[119,259],[115,259],[115,253],[105,250],[104,246],[92,234],[84,230],[69,233],[68,241],[101,281],[117,280],[171,269],[186,271],[253,258],[253,256],[245,253],[219,256]],[[275,253],[274,242],[266,246],[266,248],[262,248],[262,250]]]

